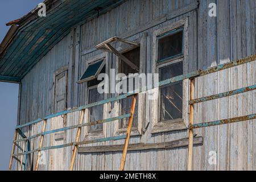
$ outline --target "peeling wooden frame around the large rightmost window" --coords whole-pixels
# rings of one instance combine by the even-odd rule
[[[168,57],[164,60],[158,60],[158,39],[159,36],[167,32],[183,29],[183,54]],[[155,73],[159,73],[159,69],[169,65],[180,63],[183,61],[183,74],[188,72],[188,18],[178,20],[168,26],[159,28],[153,32],[153,46],[152,46],[152,68]],[[182,118],[171,119],[168,121],[160,121],[160,88],[155,88],[158,98],[152,101],[154,113],[152,114],[152,130],[151,134],[164,133],[169,131],[178,131],[187,129],[188,123],[188,103],[186,102],[188,96],[188,80],[183,80],[183,111]]]

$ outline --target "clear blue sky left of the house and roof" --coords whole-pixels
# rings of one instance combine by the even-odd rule
[[[0,42],[9,30],[5,24],[21,18],[43,0],[1,0]],[[18,109],[18,84],[0,82],[0,170],[9,166],[11,143],[14,137]]]

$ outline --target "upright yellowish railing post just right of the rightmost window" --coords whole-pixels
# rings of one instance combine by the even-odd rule
[[[194,99],[195,94],[195,78],[190,81],[190,100]],[[189,105],[189,125],[194,123],[194,105]],[[192,171],[193,162],[193,129],[188,130],[188,171]]]

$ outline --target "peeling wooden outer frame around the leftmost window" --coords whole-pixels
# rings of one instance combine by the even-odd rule
[[[94,64],[97,63],[98,61],[104,60],[105,62],[105,73],[108,73],[108,57],[106,53],[101,53],[100,55],[96,55],[93,57],[90,57],[89,59],[86,59],[86,68],[85,70],[88,68],[88,66],[90,64]],[[94,86],[88,86],[88,81],[84,82],[85,84],[85,98],[86,98],[86,105],[89,103],[89,90],[93,89],[93,88],[97,88],[97,85]],[[104,100],[107,99],[107,94],[104,93]],[[102,115],[102,119],[106,119],[108,117],[108,104],[104,104],[103,106],[103,115]],[[89,123],[89,108],[85,109],[85,122]],[[100,138],[105,138],[106,137],[106,123],[102,123],[102,131],[90,131],[89,132],[89,126],[86,126],[83,128],[84,130],[84,140],[92,140],[92,139],[100,139]]]

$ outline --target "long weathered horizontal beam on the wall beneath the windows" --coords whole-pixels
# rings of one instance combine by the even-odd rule
[[[193,145],[203,144],[203,137],[195,137]],[[129,144],[127,151],[151,150],[151,149],[170,149],[188,146],[188,138],[183,138],[165,143],[135,143]],[[123,144],[109,145],[109,146],[92,146],[92,147],[79,147],[79,153],[92,153],[92,152],[120,152],[123,151]]]

